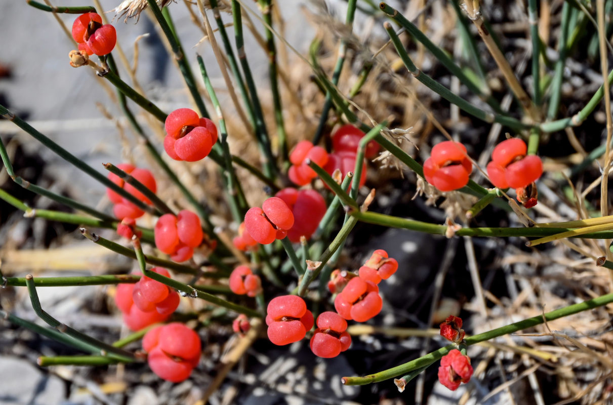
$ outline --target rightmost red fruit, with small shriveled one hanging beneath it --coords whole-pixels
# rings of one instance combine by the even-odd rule
[[[487,164],[487,175],[492,184],[500,189],[526,187],[543,174],[543,162],[535,155],[526,155],[526,143],[511,138],[498,143],[492,152],[492,161]]]

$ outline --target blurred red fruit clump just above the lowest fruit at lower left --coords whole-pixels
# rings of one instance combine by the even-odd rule
[[[170,277],[165,268],[154,267],[151,271]],[[179,306],[179,294],[159,281],[142,276],[136,284],[119,284],[115,303],[123,312],[124,324],[131,330],[140,330],[167,320]]]

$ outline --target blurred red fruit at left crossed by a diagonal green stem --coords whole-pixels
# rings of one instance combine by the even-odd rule
[[[146,168],[138,168],[129,163],[118,164],[117,167],[128,173],[135,180],[140,181],[140,183],[150,189],[151,192],[157,191],[158,186],[156,185],[155,178],[153,177],[153,174],[151,174],[151,172]],[[114,173],[109,173],[109,180],[123,188],[125,191],[134,195],[134,197],[136,197],[143,203],[151,204],[151,201],[147,197],[145,197],[142,192],[135,189],[132,184],[126,183],[120,176],[115,175]],[[109,197],[109,200],[111,200],[111,202],[114,204],[113,214],[115,214],[115,216],[119,219],[137,219],[143,216],[143,214],[145,213],[145,211],[141,210],[128,199],[121,197],[121,195],[117,194],[112,189],[107,188],[107,196]]]

